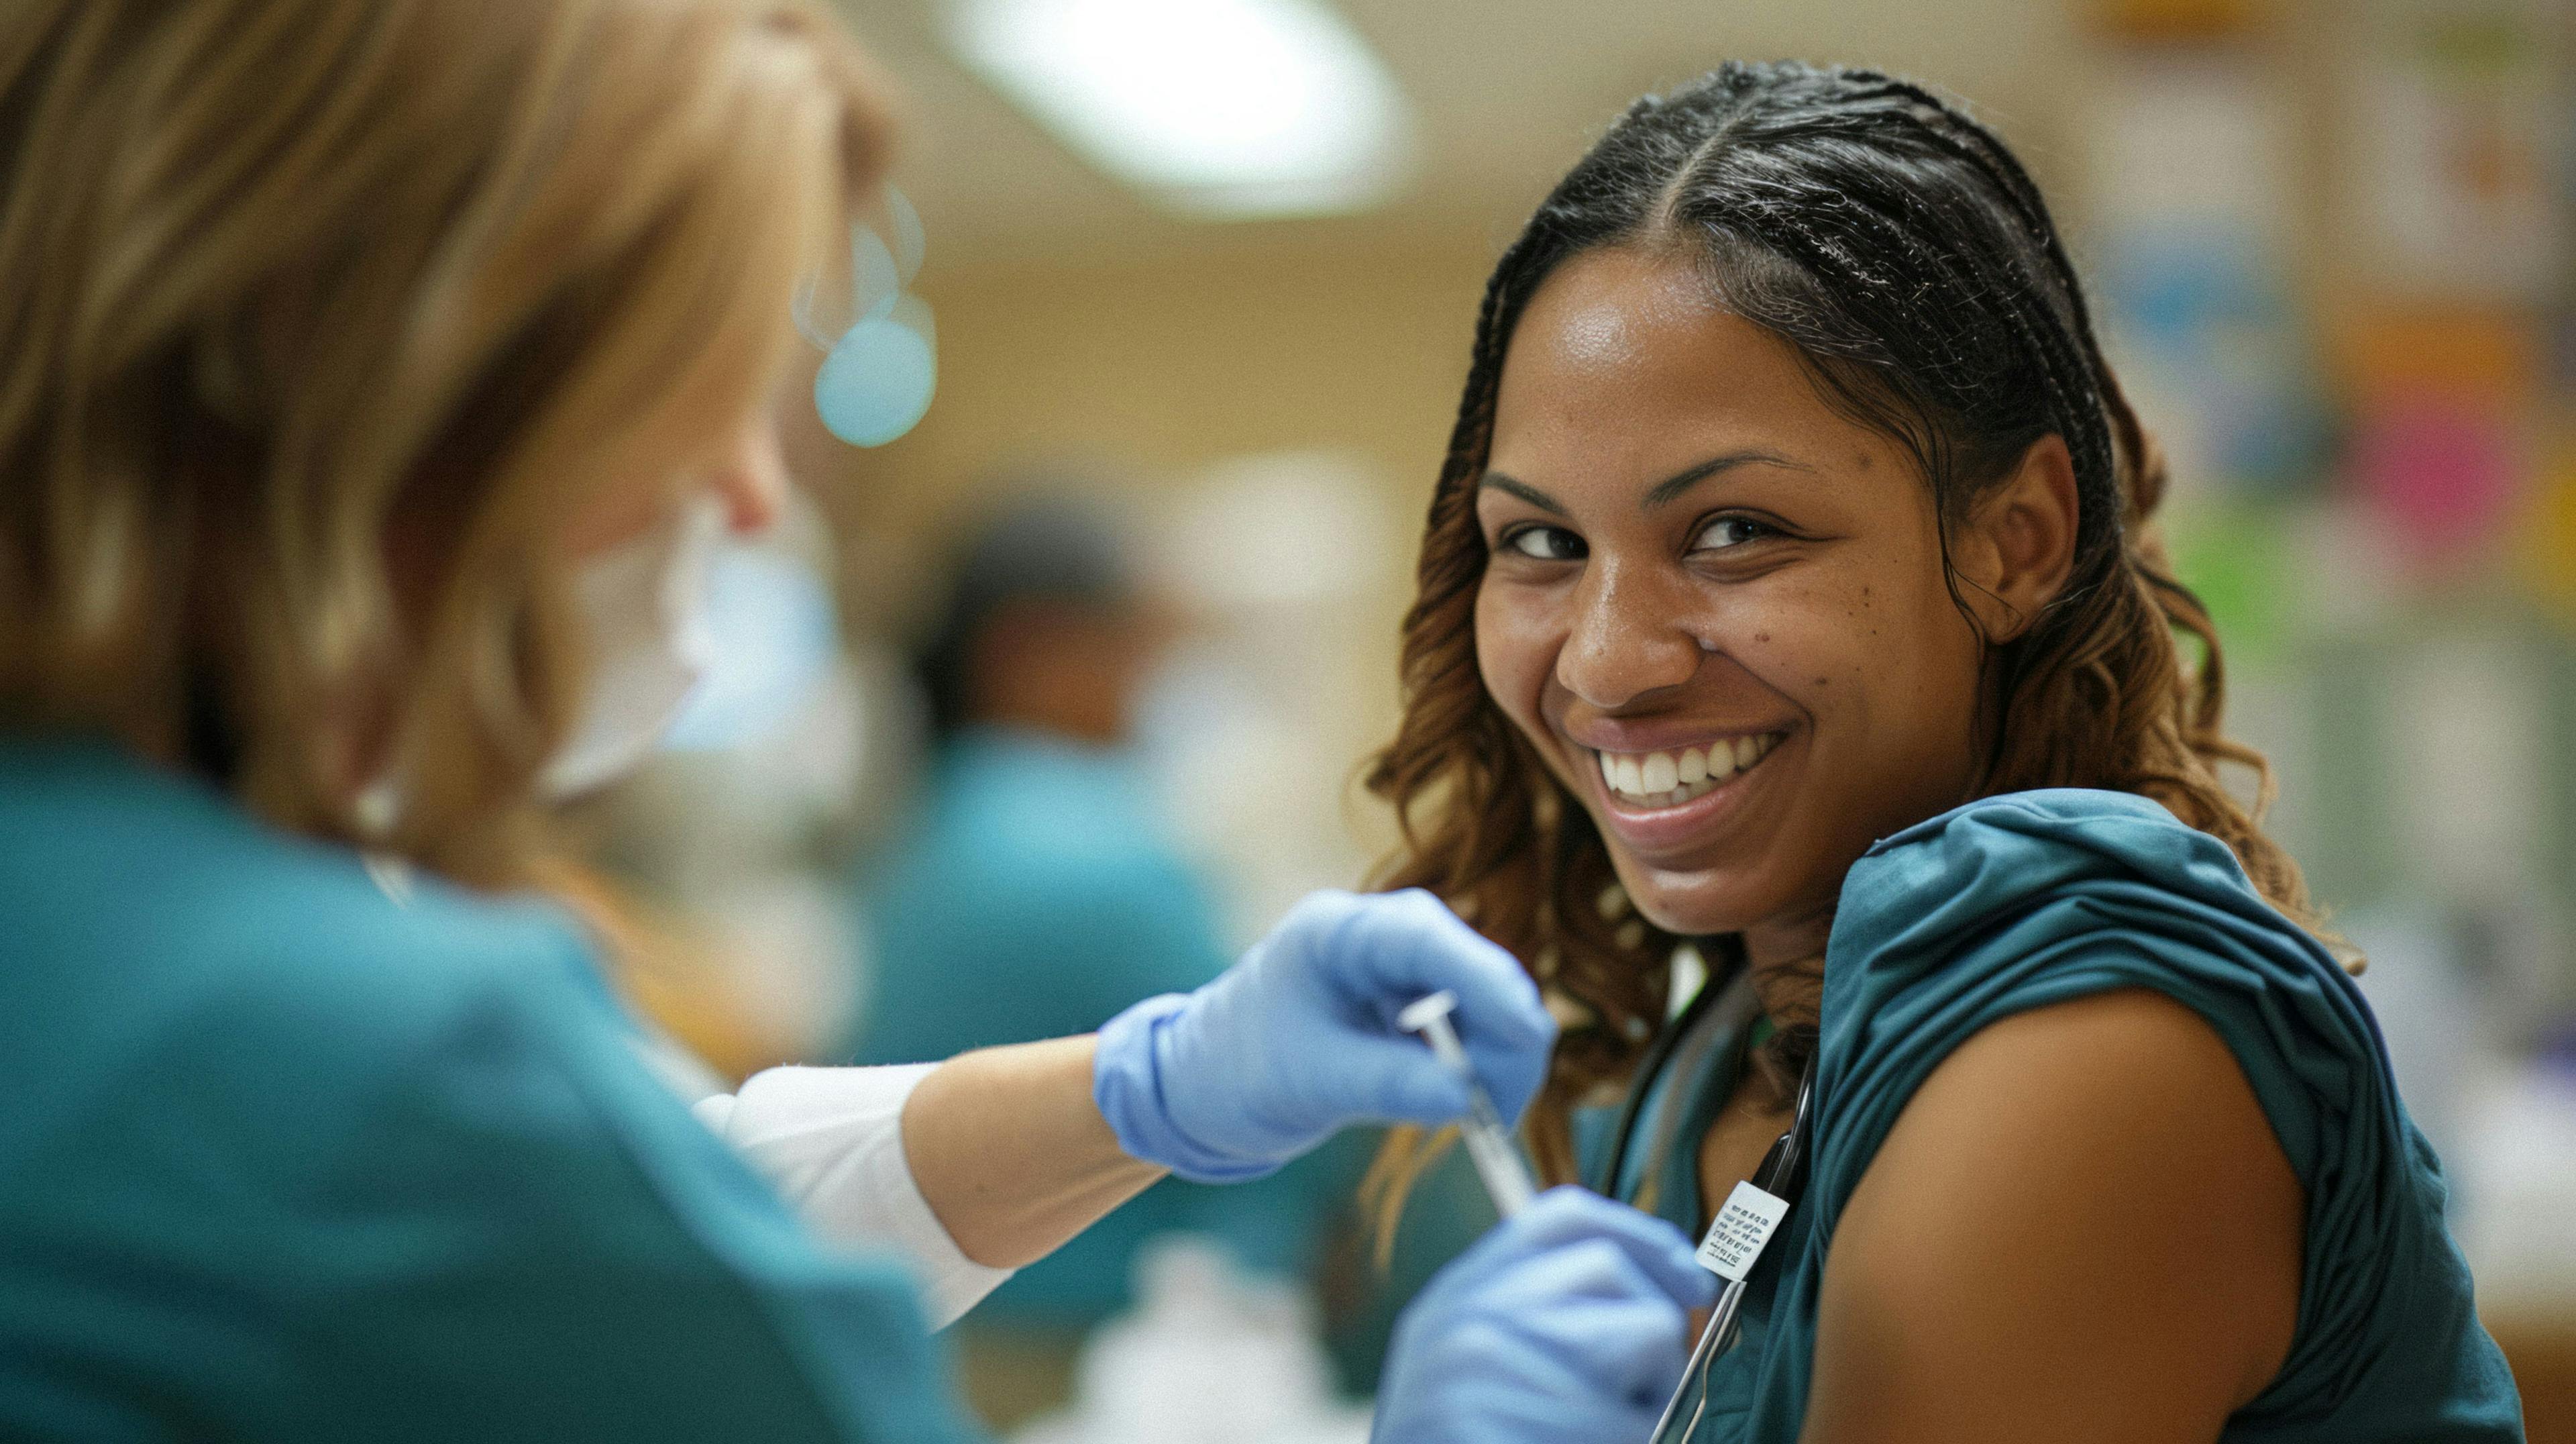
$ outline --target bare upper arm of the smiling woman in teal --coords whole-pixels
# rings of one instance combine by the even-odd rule
[[[1834,1227],[1806,1439],[2215,1439],[2287,1356],[2303,1209],[2182,1003],[2002,1019],[1932,1070]]]

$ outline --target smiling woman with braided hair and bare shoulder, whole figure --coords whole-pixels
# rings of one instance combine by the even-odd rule
[[[1370,786],[1569,1019],[1553,1178],[1700,1230],[1814,1078],[1692,1439],[2519,1436],[2161,493],[2030,178],[1901,80],[1638,101],[1494,271]]]

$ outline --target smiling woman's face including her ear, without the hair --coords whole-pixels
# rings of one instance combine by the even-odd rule
[[[2063,583],[2066,449],[1958,529],[1973,616],[1901,446],[1685,253],[1579,255],[1515,335],[1476,498],[1486,691],[1649,921],[1816,957],[1834,864],[1971,794],[1978,629]]]

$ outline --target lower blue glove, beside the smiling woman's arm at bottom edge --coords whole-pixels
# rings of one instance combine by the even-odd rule
[[[1548,1189],[1396,1320],[1378,1444],[1638,1444],[1687,1361],[1716,1276],[1669,1222]]]

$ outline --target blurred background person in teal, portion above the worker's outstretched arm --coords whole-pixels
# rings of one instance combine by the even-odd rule
[[[860,1062],[1056,1037],[1224,967],[1131,750],[1159,632],[1100,505],[1015,503],[966,539],[920,655],[925,776],[858,869]]]

